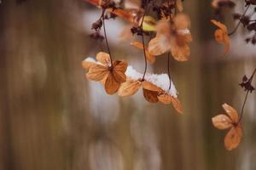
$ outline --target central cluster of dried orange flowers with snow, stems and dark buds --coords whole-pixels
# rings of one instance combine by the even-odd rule
[[[118,93],[119,96],[131,96],[142,88],[143,96],[148,102],[160,102],[173,105],[182,113],[182,105],[177,99],[177,91],[170,75],[170,55],[177,61],[189,59],[189,42],[192,37],[189,31],[189,16],[183,14],[182,0],[85,0],[102,9],[102,14],[91,29],[95,32],[90,37],[105,39],[108,53],[99,52],[96,59],[84,59],[82,65],[87,71],[86,77],[92,81],[102,82],[107,94]],[[148,15],[152,14],[152,15]],[[108,45],[105,20],[119,17],[128,21],[121,33],[121,39],[130,42],[131,46],[142,49],[145,59],[143,73],[128,66],[126,61],[113,60]],[[104,36],[101,31],[103,27]],[[142,42],[133,37],[142,37]],[[145,41],[145,37],[149,41]],[[148,63],[154,64],[158,55],[168,54],[168,74],[147,73]]]

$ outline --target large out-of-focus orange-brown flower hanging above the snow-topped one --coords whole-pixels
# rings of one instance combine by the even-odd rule
[[[156,27],[156,37],[148,44],[149,54],[160,55],[171,51],[174,59],[188,60],[189,42],[192,41],[189,26],[189,17],[186,14],[177,14],[171,23],[161,20]]]

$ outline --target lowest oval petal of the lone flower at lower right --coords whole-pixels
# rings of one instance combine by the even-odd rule
[[[224,145],[227,150],[234,150],[240,144],[242,137],[241,126],[232,127],[230,132],[226,134]]]

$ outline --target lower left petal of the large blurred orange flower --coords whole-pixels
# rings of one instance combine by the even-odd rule
[[[164,54],[170,50],[170,43],[165,35],[154,37],[148,43],[148,52],[152,55]]]

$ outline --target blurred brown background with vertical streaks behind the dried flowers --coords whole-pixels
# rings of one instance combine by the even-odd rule
[[[172,81],[183,115],[149,104],[142,92],[119,98],[84,78],[81,61],[105,48],[90,39],[100,9],[82,0],[2,0],[0,3],[1,170],[215,170],[256,169],[255,93],[243,117],[238,149],[224,149],[226,131],[211,118],[228,103],[241,110],[243,75],[256,50],[240,29],[231,51],[213,41],[210,1],[184,1],[192,27],[188,62],[172,59]],[[236,11],[243,11],[242,4]],[[224,16],[234,27],[231,10]],[[115,59],[143,71],[143,52],[119,42],[124,20],[108,20]],[[166,72],[166,56],[148,72]],[[253,84],[255,85],[255,81]]]

